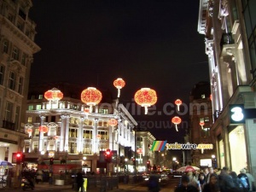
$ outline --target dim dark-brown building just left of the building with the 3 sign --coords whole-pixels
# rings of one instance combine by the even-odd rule
[[[189,142],[212,144],[213,149],[192,149],[192,164],[198,167],[217,166],[215,164],[216,145],[212,127],[211,86],[208,82],[199,82],[189,96]],[[213,158],[212,158],[213,157]]]

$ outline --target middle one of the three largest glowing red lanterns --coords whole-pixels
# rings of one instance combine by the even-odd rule
[[[97,90],[95,87],[88,87],[81,93],[81,101],[86,105],[90,106],[90,113],[92,111],[92,106],[95,106],[102,101],[102,92]]]

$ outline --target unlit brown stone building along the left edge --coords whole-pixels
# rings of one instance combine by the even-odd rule
[[[23,146],[30,69],[40,48],[31,0],[0,1],[0,160],[13,162]]]

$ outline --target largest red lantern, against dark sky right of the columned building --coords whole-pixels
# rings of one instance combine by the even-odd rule
[[[137,90],[134,96],[135,102],[145,108],[145,114],[148,113],[148,107],[154,105],[157,102],[157,96],[155,90],[150,88],[142,88]]]

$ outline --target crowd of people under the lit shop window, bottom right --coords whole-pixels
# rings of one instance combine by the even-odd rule
[[[255,180],[252,174],[241,169],[240,174],[229,171],[205,168],[201,172],[187,172],[175,192],[253,192]]]

